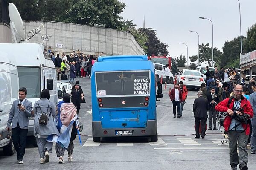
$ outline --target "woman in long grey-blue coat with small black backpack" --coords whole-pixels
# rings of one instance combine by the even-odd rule
[[[43,89],[40,100],[34,104],[34,136],[38,145],[40,164],[49,162],[49,152],[52,152],[52,142],[47,141],[48,135],[60,135],[53,117],[56,115],[56,104],[50,99],[50,91]],[[42,122],[42,115],[47,115],[47,121]]]

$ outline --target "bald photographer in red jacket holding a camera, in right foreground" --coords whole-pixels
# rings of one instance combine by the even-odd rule
[[[229,149],[230,149],[230,165],[232,170],[237,170],[236,166],[239,164],[240,170],[247,170],[248,153],[246,145],[250,134],[250,127],[245,123],[241,123],[234,118],[234,114],[243,115],[247,114],[252,118],[253,109],[250,101],[242,96],[243,88],[241,85],[236,84],[234,87],[233,97],[226,98],[215,106],[215,110],[220,112],[227,112],[224,120],[224,129],[228,131],[229,136]],[[231,102],[229,102],[231,100]],[[240,111],[233,112],[232,109]],[[243,110],[243,112],[241,112]],[[237,154],[237,146],[239,155]],[[240,161],[240,162],[239,162]]]

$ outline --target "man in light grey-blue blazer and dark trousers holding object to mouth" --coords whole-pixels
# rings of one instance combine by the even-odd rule
[[[27,90],[25,87],[19,89],[19,99],[13,101],[6,129],[11,129],[12,123],[12,141],[17,152],[19,164],[23,164],[25,155],[26,138],[28,134],[29,117],[33,109],[32,103],[26,99]]]

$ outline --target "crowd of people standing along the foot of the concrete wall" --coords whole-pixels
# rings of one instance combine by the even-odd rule
[[[68,80],[74,83],[76,77],[85,78],[87,75],[91,78],[91,69],[95,62],[98,61],[96,55],[85,55],[81,52],[73,51],[70,55],[65,53],[57,54],[49,47],[48,53],[51,54],[51,60],[56,67],[57,80]]]

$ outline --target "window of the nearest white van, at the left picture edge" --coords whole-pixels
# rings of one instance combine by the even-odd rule
[[[6,72],[0,72],[0,96],[2,104],[11,101],[11,84]]]

